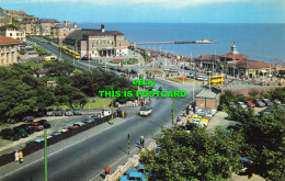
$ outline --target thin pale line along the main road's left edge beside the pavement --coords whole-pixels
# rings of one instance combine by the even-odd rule
[[[133,116],[130,116],[130,117],[133,117]],[[129,118],[130,118],[130,117],[129,117]],[[129,118],[126,118],[125,121],[127,121],[127,120],[129,120]],[[119,122],[119,123],[114,124],[114,125],[119,125],[119,124],[122,124],[122,123],[125,123],[125,121]],[[98,133],[94,134],[94,135],[88,136],[88,137],[86,137],[84,139],[81,139],[81,140],[79,140],[79,142],[77,142],[77,143],[73,143],[73,144],[71,144],[71,145],[69,145],[69,146],[67,146],[67,147],[65,147],[65,148],[58,149],[58,150],[56,150],[56,151],[49,154],[47,157],[50,157],[50,156],[53,156],[53,155],[55,155],[55,154],[57,154],[57,152],[60,152],[60,151],[62,151],[62,150],[65,150],[65,149],[67,149],[67,148],[70,148],[70,147],[72,147],[72,146],[75,146],[75,145],[77,145],[77,144],[79,144],[79,143],[81,143],[81,142],[83,142],[83,140],[90,138],[90,137],[92,137],[92,136],[99,135],[99,134],[101,134],[102,132],[105,132],[105,131],[109,129],[109,128],[110,128],[110,127],[106,127],[106,128],[102,129],[101,132],[98,132]],[[84,132],[82,132],[82,133],[84,133]],[[72,138],[72,137],[71,137],[71,138]],[[59,142],[58,142],[58,143],[59,143]],[[41,150],[42,150],[42,149],[41,149]],[[8,176],[10,176],[10,174],[12,174],[12,173],[14,173],[14,172],[16,172],[16,171],[19,171],[19,170],[24,169],[24,168],[26,168],[26,167],[29,167],[29,166],[31,166],[31,165],[33,165],[33,163],[36,163],[36,162],[38,162],[38,161],[41,161],[41,160],[43,160],[43,159],[44,159],[44,158],[39,158],[39,159],[37,159],[37,160],[33,161],[33,162],[30,162],[29,165],[25,165],[25,166],[23,166],[23,167],[21,167],[21,168],[18,168],[18,169],[15,169],[15,170],[13,170],[13,171],[11,171],[11,172],[9,172],[9,173],[7,173],[7,174],[0,177],[0,180],[3,179],[3,178],[5,178],[5,177],[8,177]]]

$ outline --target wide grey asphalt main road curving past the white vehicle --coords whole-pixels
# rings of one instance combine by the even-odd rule
[[[48,44],[43,47],[57,55],[57,48]],[[62,58],[67,59],[62,55]],[[76,63],[87,68],[83,63]],[[192,87],[168,84],[156,81],[156,88],[163,86],[167,90],[186,90],[186,98],[175,98],[175,117],[192,101]],[[195,88],[197,94],[202,87]],[[48,147],[48,180],[49,181],[89,181],[103,180],[102,170],[111,165],[115,170],[138,151],[140,134],[144,134],[146,145],[152,142],[151,134],[158,134],[161,127],[171,125],[172,98],[153,98],[153,113],[150,116],[137,115],[138,109],[129,113],[125,120],[116,118],[114,125],[104,123],[73,137]],[[127,155],[127,135],[130,135],[130,156]],[[42,181],[44,180],[43,150],[25,157],[24,163],[9,163],[0,168],[1,181]]]

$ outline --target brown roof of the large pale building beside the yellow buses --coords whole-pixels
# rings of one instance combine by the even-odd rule
[[[66,39],[81,41],[83,39],[83,36],[110,36],[110,35],[124,35],[124,34],[118,31],[102,32],[101,30],[95,30],[95,29],[82,29],[82,30],[76,30],[75,32],[70,33],[66,37]]]

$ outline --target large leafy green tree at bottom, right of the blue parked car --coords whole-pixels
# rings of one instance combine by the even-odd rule
[[[151,172],[149,180],[227,180],[238,170],[241,140],[240,134],[220,128],[215,135],[203,128],[190,134],[163,129],[156,137],[160,154],[141,152],[140,162]]]

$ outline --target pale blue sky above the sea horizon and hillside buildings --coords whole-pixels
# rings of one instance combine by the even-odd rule
[[[285,23],[285,0],[0,0],[0,7],[77,22]]]

